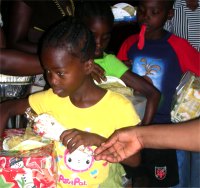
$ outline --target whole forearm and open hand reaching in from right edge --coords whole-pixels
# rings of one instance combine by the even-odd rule
[[[95,150],[96,160],[121,162],[143,148],[200,151],[200,119],[116,130]]]

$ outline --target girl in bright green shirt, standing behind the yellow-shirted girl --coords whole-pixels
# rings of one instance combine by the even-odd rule
[[[105,75],[122,79],[127,86],[147,98],[142,124],[149,124],[157,110],[160,94],[153,85],[132,73],[115,55],[105,53],[114,23],[110,5],[98,1],[82,2],[76,7],[75,16],[93,32],[96,41],[95,63],[105,70]]]

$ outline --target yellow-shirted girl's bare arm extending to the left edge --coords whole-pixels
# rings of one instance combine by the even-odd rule
[[[15,115],[24,114],[25,110],[29,107],[28,98],[12,99],[0,104],[0,136],[7,126],[10,117]]]

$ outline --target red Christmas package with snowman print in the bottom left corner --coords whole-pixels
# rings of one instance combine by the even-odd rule
[[[24,134],[24,129],[7,129],[4,137]],[[56,187],[53,142],[28,151],[0,151],[0,187]]]

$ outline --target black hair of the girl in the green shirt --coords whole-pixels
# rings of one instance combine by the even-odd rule
[[[111,6],[106,1],[81,1],[75,9],[75,17],[82,20],[90,20],[99,17],[106,20],[111,26],[114,23],[114,15]]]

